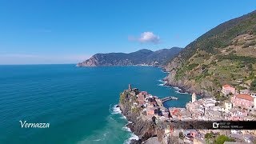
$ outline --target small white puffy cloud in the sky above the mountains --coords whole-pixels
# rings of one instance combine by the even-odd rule
[[[151,42],[154,44],[157,44],[160,41],[160,37],[150,31],[143,32],[139,38],[134,38],[133,36],[129,36],[128,39],[130,41],[138,41],[138,42],[142,42],[142,43],[150,43]]]

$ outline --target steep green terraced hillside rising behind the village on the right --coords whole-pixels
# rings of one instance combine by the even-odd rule
[[[256,11],[224,22],[166,64],[168,85],[216,96],[223,84],[249,88],[256,78]]]

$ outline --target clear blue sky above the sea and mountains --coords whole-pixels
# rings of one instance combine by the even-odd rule
[[[96,53],[185,47],[253,10],[254,0],[0,0],[0,64],[76,63]]]

